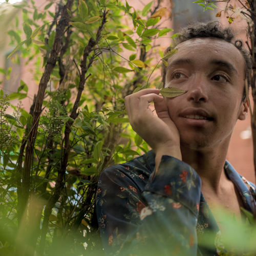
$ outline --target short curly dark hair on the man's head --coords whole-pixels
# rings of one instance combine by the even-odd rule
[[[166,49],[166,53],[174,49],[181,42],[187,41],[192,38],[203,38],[203,37],[214,37],[225,40],[233,44],[243,55],[245,60],[245,77],[248,81],[248,87],[250,87],[250,74],[252,71],[251,55],[247,49],[243,46],[241,39],[236,39],[233,30],[230,27],[224,28],[220,22],[211,21],[208,23],[196,22],[192,25],[185,27],[180,34],[175,38],[174,45]],[[162,68],[162,81],[163,86],[165,83],[166,67],[163,65]],[[246,99],[246,90],[244,88],[243,98]]]

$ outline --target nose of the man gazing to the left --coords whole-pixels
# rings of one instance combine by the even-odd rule
[[[199,77],[193,79],[189,84],[186,95],[189,101],[206,102],[208,100],[206,80]]]

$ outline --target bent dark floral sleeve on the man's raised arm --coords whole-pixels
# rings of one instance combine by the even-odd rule
[[[141,189],[122,168],[105,170],[96,210],[108,255],[197,255],[201,180],[193,168],[163,156]]]

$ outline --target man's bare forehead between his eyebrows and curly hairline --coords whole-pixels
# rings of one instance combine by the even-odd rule
[[[176,46],[178,49],[172,57],[168,59],[171,66],[179,59],[197,61],[204,65],[213,59],[230,63],[238,72],[244,73],[245,60],[242,53],[231,43],[218,38],[193,38],[181,42]]]

